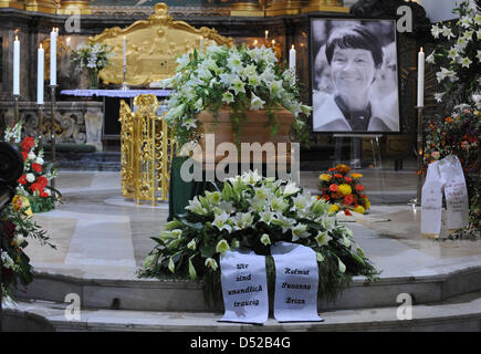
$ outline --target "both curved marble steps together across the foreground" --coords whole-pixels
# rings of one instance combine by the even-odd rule
[[[80,298],[80,319],[69,317],[71,293]],[[412,300],[411,319],[399,294]],[[335,303],[318,303],[322,323],[280,323],[272,314],[263,325],[221,323],[222,304],[208,309],[201,283],[190,281],[40,273],[18,300],[4,311],[7,331],[481,331],[481,264],[374,283],[356,277]]]

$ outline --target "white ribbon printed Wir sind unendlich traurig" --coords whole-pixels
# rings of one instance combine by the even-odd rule
[[[220,322],[264,323],[269,316],[265,257],[238,249],[220,257],[224,314]]]

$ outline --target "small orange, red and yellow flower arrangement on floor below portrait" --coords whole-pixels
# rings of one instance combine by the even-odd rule
[[[331,204],[330,211],[344,211],[351,216],[351,211],[365,214],[370,208],[370,201],[360,184],[362,174],[351,174],[351,167],[339,164],[320,175],[318,189],[321,199]]]

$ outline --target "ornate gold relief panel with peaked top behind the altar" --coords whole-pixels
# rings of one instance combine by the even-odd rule
[[[222,37],[213,29],[196,29],[184,21],[174,21],[167,11],[165,3],[157,3],[155,13],[147,20],[136,21],[126,29],[106,29],[90,38],[91,42],[107,44],[115,53],[112,65],[100,74],[106,84],[123,83],[124,37],[127,40],[126,82],[129,85],[147,85],[174,76],[176,55],[199,49],[201,38],[203,45],[232,45],[231,38]]]

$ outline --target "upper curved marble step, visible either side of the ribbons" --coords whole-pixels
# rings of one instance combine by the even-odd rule
[[[454,295],[481,291],[481,261],[436,270],[419,270],[410,277],[380,277],[368,283],[355,277],[353,283],[333,302],[318,301],[318,311],[364,309],[397,305],[398,295],[408,293],[416,304],[443,301]],[[67,294],[77,294],[90,309],[134,311],[222,311],[223,304],[208,308],[202,284],[192,281],[155,279],[84,279],[81,277],[39,272],[19,299],[63,302]]]

